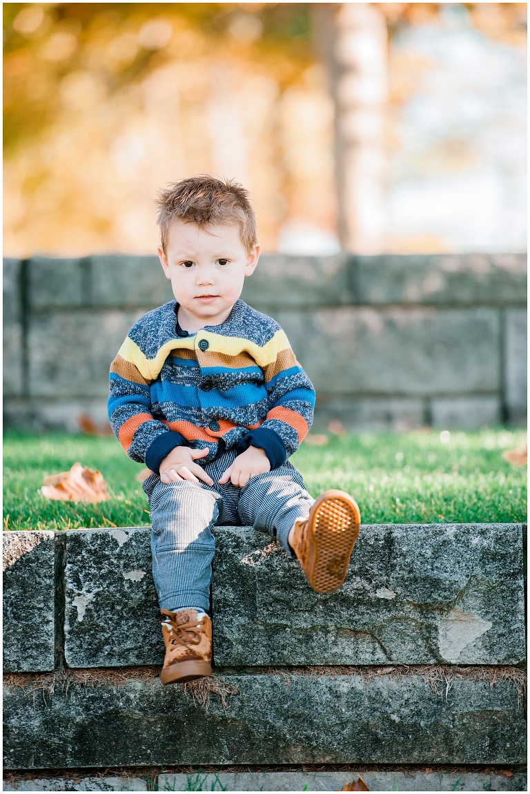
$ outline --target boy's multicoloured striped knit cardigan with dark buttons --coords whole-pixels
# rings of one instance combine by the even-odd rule
[[[275,320],[242,300],[219,326],[182,330],[179,304],[132,326],[110,367],[109,420],[125,452],[154,472],[179,445],[265,451],[271,468],[298,448],[315,393]]]

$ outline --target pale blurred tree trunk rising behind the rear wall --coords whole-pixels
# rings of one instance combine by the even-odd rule
[[[371,3],[317,4],[314,23],[335,103],[340,244],[380,253],[386,247],[385,17]]]

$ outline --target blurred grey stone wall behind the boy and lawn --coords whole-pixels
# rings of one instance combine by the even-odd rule
[[[263,256],[243,297],[286,330],[316,427],[524,421],[523,255]],[[4,260],[6,426],[105,426],[110,362],[171,299],[153,256]]]

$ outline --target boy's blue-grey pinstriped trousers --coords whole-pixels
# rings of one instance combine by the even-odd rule
[[[163,483],[158,474],[144,480],[151,508],[153,579],[162,609],[209,610],[214,524],[265,530],[293,556],[287,536],[295,519],[305,517],[314,501],[301,475],[287,461],[251,477],[244,488],[230,482],[219,485],[217,480],[235,457],[230,450],[202,466],[213,486],[202,480]]]

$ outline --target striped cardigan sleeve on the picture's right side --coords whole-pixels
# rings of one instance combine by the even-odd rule
[[[249,446],[263,449],[271,468],[285,463],[298,449],[313,423],[315,390],[294,356],[285,333],[279,330],[277,349],[263,367],[267,388],[268,411],[256,430],[245,434],[237,446],[243,452]]]

